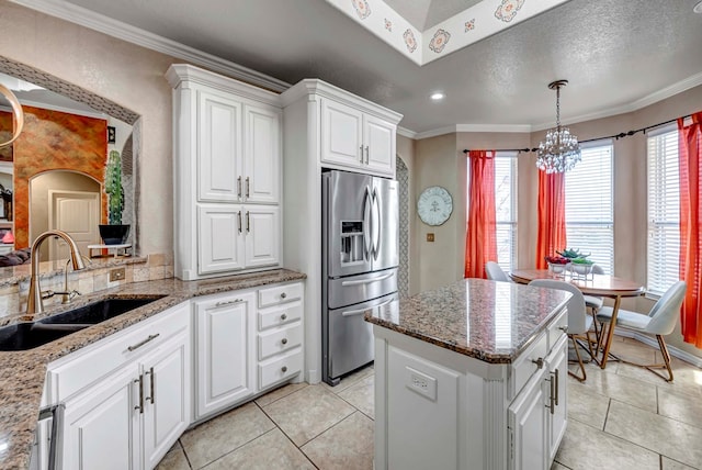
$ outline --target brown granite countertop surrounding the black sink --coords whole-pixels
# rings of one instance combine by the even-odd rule
[[[47,365],[67,354],[100,340],[113,333],[178,305],[188,299],[219,292],[244,290],[267,284],[305,279],[299,272],[285,269],[216,278],[201,281],[163,279],[131,283],[84,295],[71,305],[52,309],[41,316],[107,298],[146,298],[163,295],[132,312],[90,326],[80,332],[26,351],[0,351],[0,468],[29,467],[34,430],[46,378]],[[38,317],[38,315],[37,315]],[[18,321],[33,320],[19,315]]]

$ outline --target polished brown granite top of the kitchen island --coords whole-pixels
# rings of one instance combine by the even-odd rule
[[[365,314],[367,322],[490,363],[510,363],[570,298],[566,291],[465,279]]]

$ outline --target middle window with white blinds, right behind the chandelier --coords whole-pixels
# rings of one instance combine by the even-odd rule
[[[568,248],[589,253],[605,273],[614,271],[612,142],[584,144],[582,161],[566,172]]]

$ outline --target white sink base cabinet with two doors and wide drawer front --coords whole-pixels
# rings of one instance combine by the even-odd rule
[[[151,469],[190,425],[188,306],[49,366],[52,399],[66,406],[61,468]],[[115,361],[118,367],[102,374],[100,365]],[[84,370],[89,363],[98,367]],[[81,381],[89,384],[77,387]]]

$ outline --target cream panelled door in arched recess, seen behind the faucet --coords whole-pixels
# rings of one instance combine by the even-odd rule
[[[49,190],[48,230],[68,233],[80,253],[88,256],[88,245],[100,243],[100,193],[87,191]],[[63,238],[49,240],[49,260],[67,259],[68,245]]]

